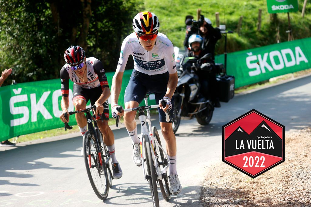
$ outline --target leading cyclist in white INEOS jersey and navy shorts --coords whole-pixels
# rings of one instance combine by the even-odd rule
[[[172,128],[172,120],[165,121],[165,112],[169,110],[173,117],[174,91],[177,86],[178,76],[174,57],[174,47],[169,38],[159,33],[160,22],[157,16],[149,11],[138,13],[133,19],[135,32],[128,35],[122,43],[118,66],[112,80],[112,115],[122,116],[124,111],[118,112],[118,98],[121,91],[123,72],[129,55],[134,59],[134,70],[125,90],[125,108],[138,107],[146,93],[154,93],[159,101],[159,118],[163,137],[169,155],[169,181],[170,192],[178,194],[182,187],[176,170],[176,137]],[[166,102],[166,106],[161,105]],[[133,162],[142,165],[140,156],[140,139],[137,136],[135,121],[136,111],[124,114],[124,124],[132,139]]]

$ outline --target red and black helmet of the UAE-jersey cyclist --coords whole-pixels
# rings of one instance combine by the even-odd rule
[[[84,61],[85,51],[78,45],[71,46],[65,51],[64,58],[67,64],[78,65]]]

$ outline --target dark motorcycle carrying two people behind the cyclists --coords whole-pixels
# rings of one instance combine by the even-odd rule
[[[200,68],[201,62],[208,62],[211,59],[211,54],[206,54],[200,59],[195,57],[184,57],[179,53],[176,61],[176,69],[178,74],[178,84],[174,92],[174,119],[173,131],[176,133],[181,119],[192,119],[195,117],[201,125],[210,123],[214,105],[210,98],[204,97],[200,93],[201,84],[195,70]],[[216,63],[216,69],[223,71],[223,64]],[[212,70],[212,65],[205,70]],[[205,90],[208,90],[207,88]]]

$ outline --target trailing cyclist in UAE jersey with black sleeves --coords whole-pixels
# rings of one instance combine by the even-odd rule
[[[73,97],[72,102],[76,110],[86,108],[86,103],[90,100],[91,105],[96,106],[97,125],[103,134],[104,143],[107,145],[114,179],[122,177],[122,170],[115,156],[114,148],[114,134],[112,133],[108,120],[101,121],[98,114],[105,115],[109,119],[109,105],[108,98],[110,96],[110,89],[108,86],[107,77],[105,74],[103,63],[95,57],[85,57],[85,51],[80,46],[69,47],[64,54],[67,64],[63,66],[60,71],[61,89],[62,89],[62,114],[60,119],[65,123],[69,122],[65,119],[64,113],[68,112],[69,107],[69,79],[73,83]],[[87,131],[87,121],[83,113],[76,114],[77,124],[83,134]],[[81,151],[83,155],[83,152]]]

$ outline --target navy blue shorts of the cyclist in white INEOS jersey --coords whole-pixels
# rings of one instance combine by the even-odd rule
[[[142,102],[147,93],[155,94],[156,104],[165,97],[167,83],[169,82],[169,72],[156,75],[147,75],[137,70],[133,70],[128,86],[125,89],[124,103],[128,101]],[[169,111],[171,115],[170,123],[174,116],[174,95],[171,100],[173,108]],[[160,122],[165,121],[165,112],[158,108]]]

